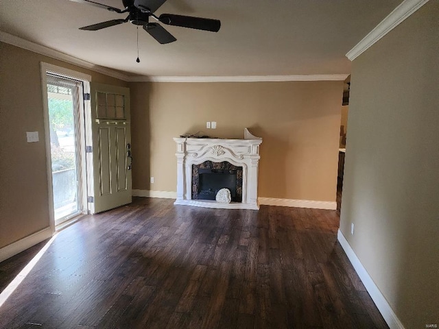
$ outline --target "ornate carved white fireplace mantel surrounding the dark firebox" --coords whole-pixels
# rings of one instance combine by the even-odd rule
[[[244,130],[244,139],[174,138],[177,143],[177,199],[174,204],[205,208],[259,209],[258,167],[262,138]],[[242,167],[242,202],[192,199],[192,164],[227,161]]]

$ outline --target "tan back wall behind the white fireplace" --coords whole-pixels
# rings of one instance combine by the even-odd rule
[[[243,138],[249,127],[263,138],[260,197],[335,201],[342,81],[137,82],[130,89],[133,188],[176,191],[173,137]]]

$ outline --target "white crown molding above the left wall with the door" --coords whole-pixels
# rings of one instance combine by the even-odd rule
[[[40,55],[48,56],[50,58],[55,58],[56,60],[62,60],[63,62],[74,64],[84,69],[89,69],[97,73],[109,75],[110,77],[115,77],[119,80],[128,81],[128,75],[124,75],[122,73],[112,71],[110,69],[106,69],[103,66],[99,66],[91,62],[86,62],[85,60],[80,60],[79,58],[75,58],[73,56],[67,55],[67,53],[62,53],[60,51],[42,45],[38,45],[34,42],[25,40],[23,38],[14,36],[12,34],[3,31],[0,31],[0,41],[29,51],[34,51],[34,53],[39,53]]]

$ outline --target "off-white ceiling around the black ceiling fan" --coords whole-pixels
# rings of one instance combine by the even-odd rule
[[[121,8],[121,0],[94,0]],[[217,33],[163,25],[176,42],[160,45],[136,25],[97,32],[79,27],[124,19],[69,0],[0,0],[0,30],[75,58],[145,76],[340,74],[345,54],[401,0],[167,0],[156,14],[219,19]]]

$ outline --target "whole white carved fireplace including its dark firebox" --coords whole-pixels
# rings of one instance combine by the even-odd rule
[[[244,139],[174,138],[177,145],[177,199],[174,204],[206,208],[259,209],[259,145],[262,138],[244,130]],[[228,188],[232,202],[216,202]]]

